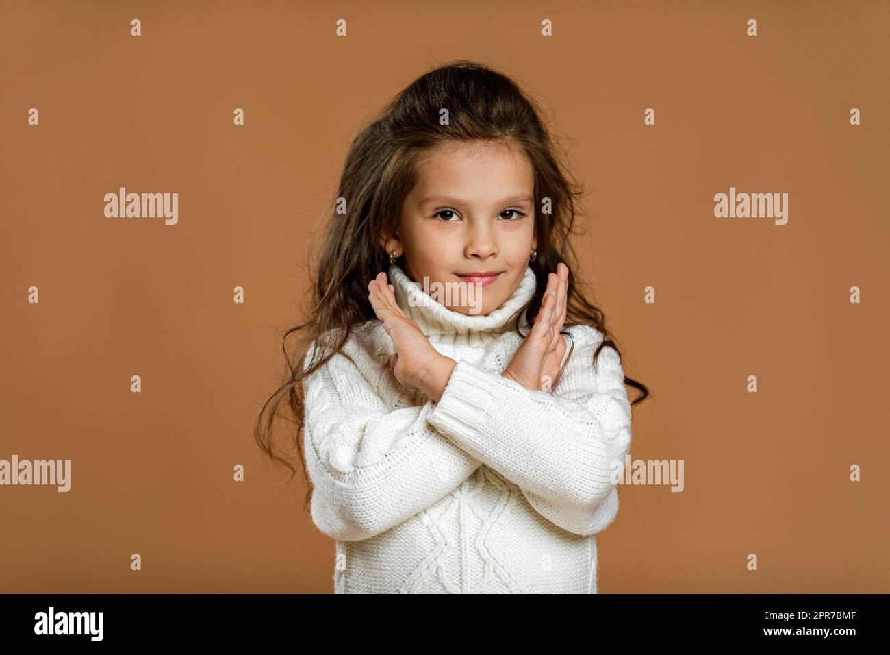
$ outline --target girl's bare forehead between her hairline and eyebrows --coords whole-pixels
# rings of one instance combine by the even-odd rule
[[[531,163],[521,149],[495,142],[443,143],[418,158],[417,184],[409,197],[417,203],[492,202],[530,196],[533,189]]]

